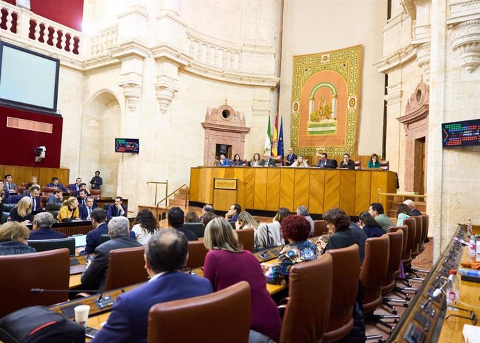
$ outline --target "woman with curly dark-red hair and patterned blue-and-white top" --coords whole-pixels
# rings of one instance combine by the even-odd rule
[[[309,239],[310,223],[303,216],[291,215],[282,221],[282,237],[289,242],[280,251],[278,262],[264,263],[266,282],[278,285],[289,276],[294,264],[317,260],[319,250]]]

